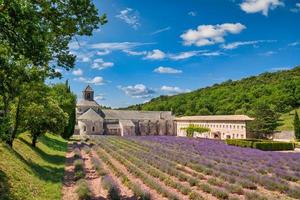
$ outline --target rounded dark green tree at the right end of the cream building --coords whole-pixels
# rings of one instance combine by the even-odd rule
[[[264,101],[259,102],[254,107],[253,113],[255,120],[248,123],[250,136],[253,138],[268,138],[278,126],[278,115]]]

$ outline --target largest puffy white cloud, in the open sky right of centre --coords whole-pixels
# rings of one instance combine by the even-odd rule
[[[246,26],[241,23],[200,25],[197,30],[189,29],[180,37],[183,39],[184,45],[206,46],[223,43],[227,34],[238,34],[245,28]]]

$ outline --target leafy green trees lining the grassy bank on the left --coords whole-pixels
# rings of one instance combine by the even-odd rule
[[[74,37],[90,36],[106,22],[92,0],[0,1],[0,134],[10,146],[20,127],[36,141],[39,132],[62,130],[53,125],[74,118],[44,83],[61,77],[57,68],[74,67],[68,46]],[[63,129],[71,130],[67,124]]]

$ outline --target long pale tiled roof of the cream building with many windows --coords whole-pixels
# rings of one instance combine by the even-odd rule
[[[200,115],[178,117],[176,121],[252,121],[247,115]]]

